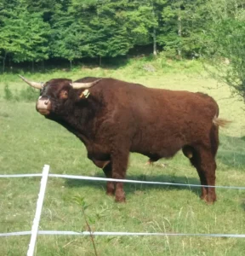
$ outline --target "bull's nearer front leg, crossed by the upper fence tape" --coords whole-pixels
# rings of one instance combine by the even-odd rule
[[[124,179],[128,167],[129,150],[116,151],[111,154],[112,160],[112,178]],[[115,183],[115,201],[125,202],[125,193],[123,183]]]

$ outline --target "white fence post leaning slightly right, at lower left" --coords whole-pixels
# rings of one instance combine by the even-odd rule
[[[37,241],[37,232],[38,232],[40,217],[41,217],[42,208],[43,208],[43,200],[44,200],[46,185],[48,181],[48,172],[49,172],[49,166],[44,165],[43,177],[41,179],[40,191],[37,199],[37,208],[36,208],[35,218],[33,219],[33,224],[31,228],[31,241],[29,243],[27,256],[33,256],[34,254],[36,241]]]

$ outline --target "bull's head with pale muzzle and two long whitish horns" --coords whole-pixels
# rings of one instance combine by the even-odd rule
[[[36,108],[45,116],[48,116],[49,113],[59,113],[61,109],[64,110],[66,102],[76,99],[78,89],[88,89],[100,81],[100,79],[96,79],[90,83],[72,83],[70,79],[51,79],[46,83],[37,83],[22,76],[20,78],[31,87],[40,90]]]

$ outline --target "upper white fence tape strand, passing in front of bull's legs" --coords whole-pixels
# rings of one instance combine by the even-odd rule
[[[41,173],[31,173],[31,174],[9,174],[0,175],[0,177],[42,177]],[[117,178],[105,178],[105,177],[88,177],[88,176],[77,176],[77,175],[66,175],[66,174],[48,174],[48,177],[62,177],[71,179],[81,179],[81,180],[91,180],[91,181],[112,181],[121,183],[143,183],[143,184],[157,184],[157,185],[171,185],[171,186],[185,186],[185,187],[207,187],[215,189],[245,189],[245,187],[235,187],[235,186],[208,186],[200,184],[189,184],[189,183],[162,183],[162,182],[150,182],[150,181],[140,181],[140,180],[130,180],[130,179],[117,179]]]

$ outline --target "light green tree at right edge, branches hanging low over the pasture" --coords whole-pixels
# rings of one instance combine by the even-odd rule
[[[215,72],[208,71],[228,84],[245,102],[245,6],[242,3],[235,0],[213,2],[210,7],[214,20],[209,26],[202,54],[215,67]]]

